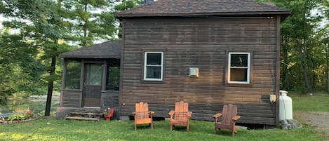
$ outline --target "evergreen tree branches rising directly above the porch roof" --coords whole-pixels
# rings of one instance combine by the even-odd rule
[[[63,15],[72,23],[72,41],[79,41],[79,46],[88,46],[96,40],[114,39],[115,18],[112,1],[106,0],[62,0]]]

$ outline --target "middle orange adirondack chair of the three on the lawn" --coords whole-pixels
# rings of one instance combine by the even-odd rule
[[[189,131],[189,118],[192,116],[192,112],[189,112],[189,103],[176,102],[175,111],[169,112],[170,116],[170,130],[173,130],[173,126],[186,126]]]

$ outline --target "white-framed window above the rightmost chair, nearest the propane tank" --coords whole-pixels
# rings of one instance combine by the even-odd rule
[[[228,83],[250,83],[250,53],[229,53]]]

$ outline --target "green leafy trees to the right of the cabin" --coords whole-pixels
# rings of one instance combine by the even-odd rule
[[[328,1],[270,0],[292,11],[281,23],[281,88],[314,93],[328,86],[328,54],[325,40]],[[326,16],[326,17],[325,17]]]

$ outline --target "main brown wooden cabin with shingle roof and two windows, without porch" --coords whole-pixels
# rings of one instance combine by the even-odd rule
[[[116,13],[120,115],[144,101],[168,117],[184,100],[192,119],[213,121],[233,104],[240,123],[278,124],[280,25],[288,15],[252,0],[158,0]]]

